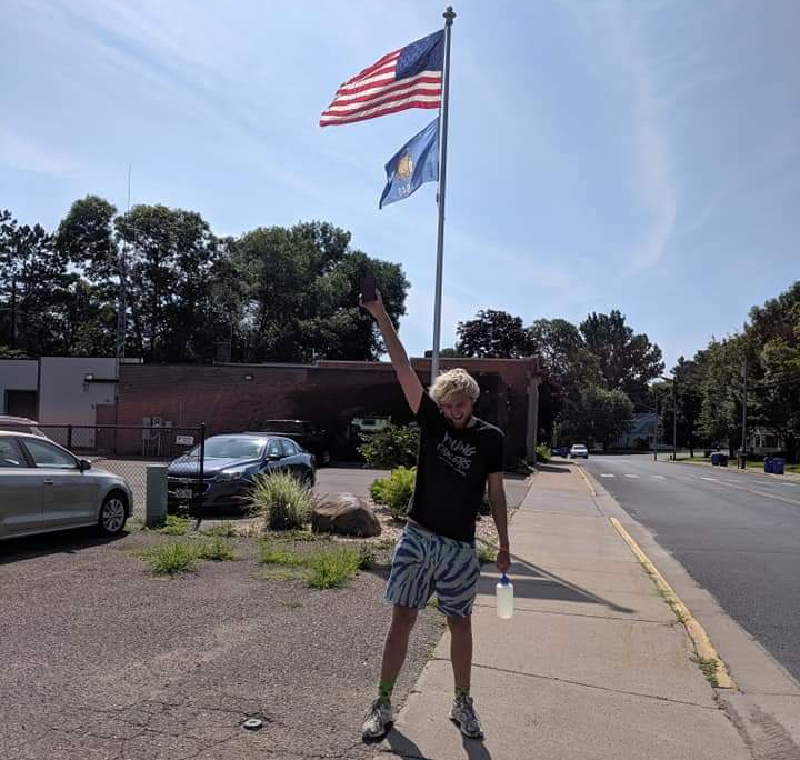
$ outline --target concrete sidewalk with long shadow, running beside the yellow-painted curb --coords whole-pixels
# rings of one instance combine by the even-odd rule
[[[610,509],[574,466],[542,469],[511,522],[514,616],[497,618],[490,566],[473,616],[472,693],[486,740],[462,738],[447,719],[446,634],[379,756],[751,758]]]

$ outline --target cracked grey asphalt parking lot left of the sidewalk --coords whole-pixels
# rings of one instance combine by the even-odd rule
[[[321,470],[320,488],[358,492],[374,477]],[[513,481],[510,501],[526,488]],[[314,590],[264,577],[246,537],[231,539],[238,561],[154,577],[134,552],[167,540],[69,531],[0,543],[3,760],[372,757],[360,723],[389,619],[389,550],[344,588]],[[441,622],[420,614],[398,703]],[[242,728],[251,717],[261,730]]]

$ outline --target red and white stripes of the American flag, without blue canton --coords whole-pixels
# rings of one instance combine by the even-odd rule
[[[387,53],[348,79],[337,90],[333,102],[322,111],[320,127],[374,119],[407,108],[439,108],[442,72],[421,71],[397,80],[397,60],[401,52],[402,49]]]

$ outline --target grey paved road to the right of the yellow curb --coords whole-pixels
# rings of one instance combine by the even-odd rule
[[[647,456],[584,468],[800,680],[800,480]]]

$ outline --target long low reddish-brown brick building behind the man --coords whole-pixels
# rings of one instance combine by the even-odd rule
[[[413,359],[412,364],[428,386],[430,359]],[[463,367],[476,378],[481,387],[477,413],[506,432],[508,462],[531,458],[537,359],[441,359],[440,366]],[[204,422],[209,436],[262,430],[268,419],[310,420],[328,431],[334,457],[351,450],[350,422],[356,417],[411,421],[394,371],[384,362],[122,364],[117,424],[141,426],[153,417],[177,427]]]

